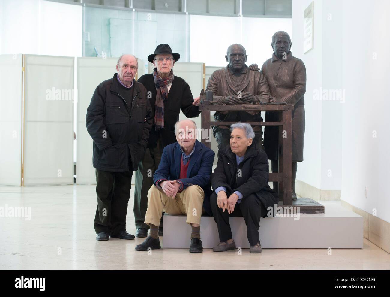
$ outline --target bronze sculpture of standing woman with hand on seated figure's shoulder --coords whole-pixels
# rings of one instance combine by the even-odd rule
[[[305,135],[305,99],[306,68],[301,59],[291,54],[291,39],[289,34],[278,31],[272,36],[273,55],[261,66],[269,91],[270,102],[286,102],[294,105],[292,114],[293,128],[293,200],[296,200],[295,178],[298,162],[303,161],[303,137]],[[249,66],[258,71],[256,64]],[[277,112],[266,112],[266,121],[278,121]],[[271,160],[272,172],[278,171],[278,127],[265,126],[264,148]],[[273,182],[276,190],[277,182]]]

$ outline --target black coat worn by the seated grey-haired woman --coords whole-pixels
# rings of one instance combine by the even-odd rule
[[[225,187],[227,197],[235,191],[245,197],[255,194],[265,208],[278,204],[277,192],[268,185],[268,157],[255,142],[248,147],[244,160],[237,166],[236,154],[230,146],[219,151],[217,167],[211,176],[213,190]]]

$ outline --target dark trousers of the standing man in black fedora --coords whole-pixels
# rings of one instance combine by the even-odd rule
[[[138,170],[135,172],[134,219],[135,228],[137,229],[149,229],[149,225],[145,224],[147,193],[153,185],[153,175],[158,169],[162,153],[163,146],[159,139],[156,148],[146,149],[145,157],[140,164],[138,164]],[[160,226],[163,227],[163,216],[161,216]]]

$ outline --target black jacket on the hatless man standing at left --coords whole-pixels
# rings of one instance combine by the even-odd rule
[[[138,170],[152,127],[145,87],[133,80],[131,106],[119,94],[117,73],[97,86],[87,108],[87,130],[94,140],[92,165],[99,170]],[[133,168],[129,168],[131,157]]]

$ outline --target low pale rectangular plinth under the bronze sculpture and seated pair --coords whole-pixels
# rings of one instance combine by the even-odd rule
[[[298,198],[299,199],[299,198]],[[297,200],[300,202],[299,200]],[[264,249],[362,249],[363,217],[342,208],[339,201],[321,201],[325,213],[266,217],[260,220],[260,240]],[[243,217],[230,218],[236,247],[249,248]],[[186,216],[164,215],[164,248],[189,248],[191,226]],[[219,243],[213,217],[202,217],[200,237],[205,249]]]

